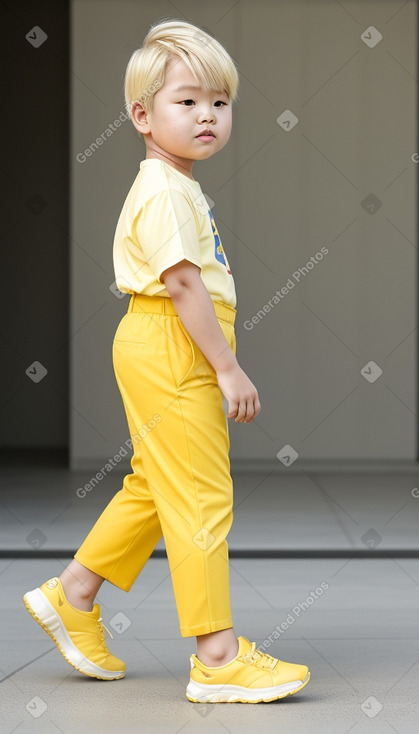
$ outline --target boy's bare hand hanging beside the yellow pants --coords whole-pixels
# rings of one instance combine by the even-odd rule
[[[259,415],[258,391],[238,364],[217,372],[217,380],[228,401],[228,418],[235,418],[236,423],[250,423]]]

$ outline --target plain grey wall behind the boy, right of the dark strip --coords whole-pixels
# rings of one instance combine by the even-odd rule
[[[194,165],[235,277],[237,356],[262,404],[250,425],[229,421],[232,462],[282,467],[287,445],[300,465],[416,459],[417,3],[177,8],[72,4],[72,468],[99,470],[128,438],[112,368],[128,296],[110,290],[112,242],[145,149],[127,121],[84,163],[76,155],[123,111],[125,67],[149,25],[180,13],[225,44],[241,79],[229,143]]]

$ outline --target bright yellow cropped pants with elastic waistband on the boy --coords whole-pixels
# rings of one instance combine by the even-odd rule
[[[213,301],[234,354],[236,310]],[[233,626],[228,423],[216,373],[172,299],[133,294],[113,342],[132,440],[123,480],[75,558],[129,591],[164,536],[182,637]]]

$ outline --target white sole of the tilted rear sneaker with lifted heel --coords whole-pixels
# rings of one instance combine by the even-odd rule
[[[45,632],[48,632],[60,653],[73,668],[76,668],[80,673],[89,675],[92,678],[100,678],[101,680],[114,680],[124,677],[124,670],[105,670],[105,668],[101,668],[84,657],[72,641],[60,615],[56,612],[52,604],[50,604],[41,589],[38,588],[33,591],[28,591],[24,595],[23,601],[29,614]]]

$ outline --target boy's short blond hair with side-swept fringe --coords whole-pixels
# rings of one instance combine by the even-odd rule
[[[146,113],[153,111],[154,95],[163,86],[166,64],[174,56],[183,59],[205,91],[224,91],[235,101],[239,75],[221,43],[199,26],[166,18],[150,27],[142,47],[128,62],[124,96],[129,116],[133,102],[140,102]]]

